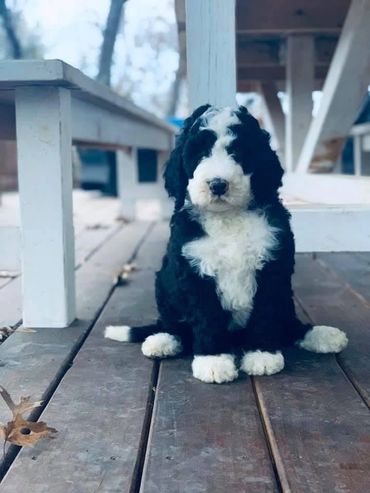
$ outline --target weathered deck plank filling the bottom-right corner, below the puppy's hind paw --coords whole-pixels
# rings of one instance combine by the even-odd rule
[[[370,414],[334,356],[291,350],[255,382],[284,492],[368,491]]]

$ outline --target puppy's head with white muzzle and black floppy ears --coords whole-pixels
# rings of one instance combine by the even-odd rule
[[[202,107],[185,122],[165,172],[166,188],[204,211],[245,209],[268,202],[281,184],[282,169],[266,132],[240,107]]]

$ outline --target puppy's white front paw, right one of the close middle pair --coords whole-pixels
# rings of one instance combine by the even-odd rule
[[[248,375],[273,375],[284,368],[284,356],[280,351],[248,351],[243,356],[240,368]]]

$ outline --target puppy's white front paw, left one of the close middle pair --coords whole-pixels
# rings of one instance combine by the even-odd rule
[[[206,383],[232,382],[238,377],[232,354],[194,356],[191,366],[194,377]]]

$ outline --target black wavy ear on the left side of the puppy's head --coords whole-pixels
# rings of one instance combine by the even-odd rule
[[[163,174],[164,185],[170,197],[175,199],[175,210],[181,209],[185,202],[188,177],[183,166],[183,150],[191,127],[196,120],[209,108],[209,104],[197,108],[184,122],[181,133],[176,138],[176,145],[166,163]]]

